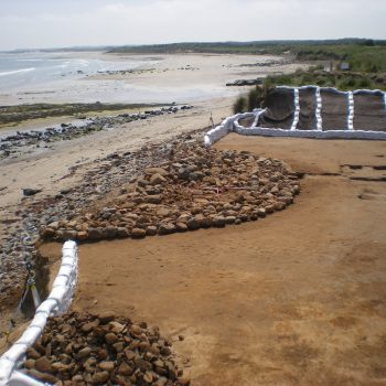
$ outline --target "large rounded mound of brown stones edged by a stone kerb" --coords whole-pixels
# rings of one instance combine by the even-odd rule
[[[124,184],[116,196],[41,229],[45,239],[142,238],[257,221],[299,193],[281,161],[249,152],[176,143],[169,159]]]

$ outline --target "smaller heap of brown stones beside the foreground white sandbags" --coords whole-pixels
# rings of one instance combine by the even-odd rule
[[[171,341],[159,329],[111,312],[69,313],[49,320],[26,352],[23,372],[55,385],[187,386]]]

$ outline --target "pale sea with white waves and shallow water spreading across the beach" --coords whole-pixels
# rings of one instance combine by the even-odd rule
[[[161,56],[105,55],[103,52],[0,52],[0,105],[33,103],[190,103],[224,96],[225,87],[130,84],[95,78],[108,71],[151,68]],[[87,77],[90,76],[88,79]],[[85,82],[85,79],[87,79]],[[225,90],[225,94],[228,94]]]

